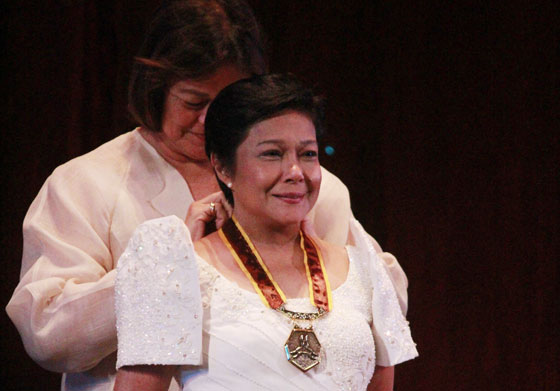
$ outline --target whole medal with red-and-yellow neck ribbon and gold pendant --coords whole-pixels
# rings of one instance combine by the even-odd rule
[[[284,351],[287,360],[300,370],[306,372],[321,362],[321,344],[312,322],[331,309],[332,297],[323,258],[315,243],[303,231],[300,231],[300,246],[303,250],[305,271],[309,282],[311,303],[317,312],[303,313],[289,311],[284,307],[286,296],[254,247],[251,239],[237,220],[232,218],[218,231],[226,247],[241,270],[245,273],[264,305],[275,309],[290,318],[294,323]],[[302,327],[298,322],[309,325]]]

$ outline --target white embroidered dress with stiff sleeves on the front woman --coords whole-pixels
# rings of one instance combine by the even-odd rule
[[[373,246],[347,251],[350,268],[333,291],[333,310],[313,322],[322,361],[303,373],[283,352],[289,319],[198,257],[183,221],[145,222],[119,261],[117,365],[184,365],[178,377],[189,391],[365,390],[376,363],[395,365],[418,353]],[[309,298],[289,299],[287,307],[314,310]]]

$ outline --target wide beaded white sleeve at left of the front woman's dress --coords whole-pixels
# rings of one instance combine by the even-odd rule
[[[175,216],[140,225],[117,265],[117,368],[198,365],[202,306],[194,247]]]

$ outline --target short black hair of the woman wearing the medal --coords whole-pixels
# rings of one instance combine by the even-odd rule
[[[258,75],[224,88],[206,113],[206,155],[212,154],[234,174],[235,153],[258,122],[293,110],[309,116],[319,138],[324,131],[324,100],[290,74]],[[233,205],[231,190],[218,179]]]

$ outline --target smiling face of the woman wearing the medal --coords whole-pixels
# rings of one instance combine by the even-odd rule
[[[235,157],[231,176],[235,216],[269,226],[299,227],[321,185],[310,118],[286,111],[253,125]]]

